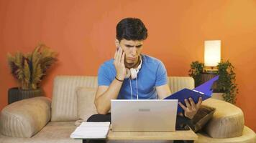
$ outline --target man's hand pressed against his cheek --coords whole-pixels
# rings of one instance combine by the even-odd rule
[[[119,80],[124,80],[127,73],[124,66],[124,51],[119,48],[114,54],[114,67],[116,68],[116,78]]]

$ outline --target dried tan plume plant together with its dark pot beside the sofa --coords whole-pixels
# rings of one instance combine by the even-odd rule
[[[45,77],[46,70],[57,61],[56,53],[45,44],[38,44],[34,51],[28,54],[17,52],[12,56],[8,53],[7,61],[11,73],[19,82],[19,87],[13,87],[8,91],[8,104],[42,96],[40,83]]]

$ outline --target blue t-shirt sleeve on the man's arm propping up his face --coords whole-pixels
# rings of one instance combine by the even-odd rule
[[[111,80],[109,78],[109,71],[106,69],[104,64],[102,64],[99,67],[99,71],[98,71],[98,85],[109,86],[110,84],[111,84]]]

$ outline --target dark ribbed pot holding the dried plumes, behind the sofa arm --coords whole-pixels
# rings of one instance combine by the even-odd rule
[[[17,102],[22,99],[28,99],[32,97],[43,96],[42,89],[19,89],[18,87],[13,87],[8,90],[8,104]]]

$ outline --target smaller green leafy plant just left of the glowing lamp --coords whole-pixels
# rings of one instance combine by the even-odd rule
[[[203,74],[204,71],[204,64],[200,63],[199,61],[193,61],[191,63],[191,69],[188,71],[189,76],[193,77],[195,80],[195,86],[197,87],[198,85],[201,84],[201,74]]]

